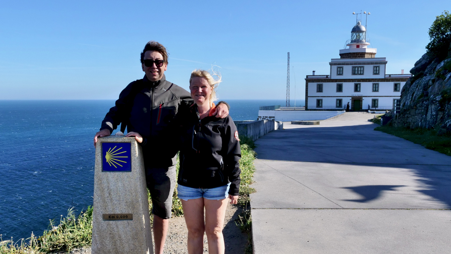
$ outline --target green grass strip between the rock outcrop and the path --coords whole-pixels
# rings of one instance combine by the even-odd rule
[[[437,131],[434,129],[408,129],[384,125],[376,127],[374,130],[402,137],[415,144],[420,144],[428,149],[451,156],[451,136],[438,136]]]

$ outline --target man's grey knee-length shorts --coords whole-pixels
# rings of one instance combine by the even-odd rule
[[[152,198],[152,214],[169,219],[175,188],[175,165],[170,168],[146,169],[146,183]]]

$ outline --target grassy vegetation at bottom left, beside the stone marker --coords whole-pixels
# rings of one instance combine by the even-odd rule
[[[17,242],[3,240],[0,235],[1,254],[46,254],[62,251],[70,251],[75,248],[91,245],[92,238],[92,207],[75,216],[73,208],[67,212],[67,216],[61,216],[60,223],[50,221],[49,230],[45,230],[42,236],[31,237]]]

